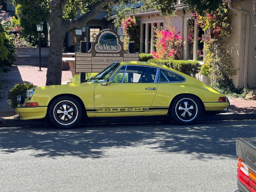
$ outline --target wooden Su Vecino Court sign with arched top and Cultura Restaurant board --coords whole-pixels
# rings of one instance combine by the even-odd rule
[[[88,41],[89,38],[86,37],[86,44]],[[82,73],[99,73],[114,62],[139,61],[139,53],[126,52],[116,32],[104,29],[92,42],[91,49],[87,52],[76,52],[75,58],[75,71],[81,73],[82,82],[85,79],[85,74]]]

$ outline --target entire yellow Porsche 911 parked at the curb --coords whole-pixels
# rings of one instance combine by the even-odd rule
[[[83,118],[168,116],[180,125],[218,113],[227,98],[197,79],[160,64],[128,61],[109,65],[81,84],[51,85],[18,96],[20,119],[48,117],[59,128]]]

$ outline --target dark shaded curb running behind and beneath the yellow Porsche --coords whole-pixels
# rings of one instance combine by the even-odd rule
[[[142,118],[121,118],[121,119],[104,119],[104,118],[96,118],[96,119],[87,119],[87,121],[82,122],[82,125],[87,124],[111,124],[111,123],[141,123],[141,122],[160,122],[160,119],[157,117],[144,117]],[[214,116],[205,116],[200,117],[198,121],[223,121],[223,120],[254,120],[256,119],[256,113],[221,113]],[[16,127],[16,126],[44,126],[51,125],[51,123],[47,119],[35,119],[35,120],[20,120],[20,119],[3,119],[0,118],[0,127]]]

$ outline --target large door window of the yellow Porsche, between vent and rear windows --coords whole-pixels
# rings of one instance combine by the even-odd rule
[[[127,66],[124,83],[153,83],[157,68],[147,66]]]

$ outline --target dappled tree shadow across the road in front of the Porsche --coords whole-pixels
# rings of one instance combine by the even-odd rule
[[[34,157],[107,157],[110,148],[144,146],[157,152],[193,154],[211,159],[236,156],[236,138],[255,137],[248,121],[198,122],[195,126],[173,123],[79,125],[72,130],[52,126],[0,129],[0,153],[32,150]]]

